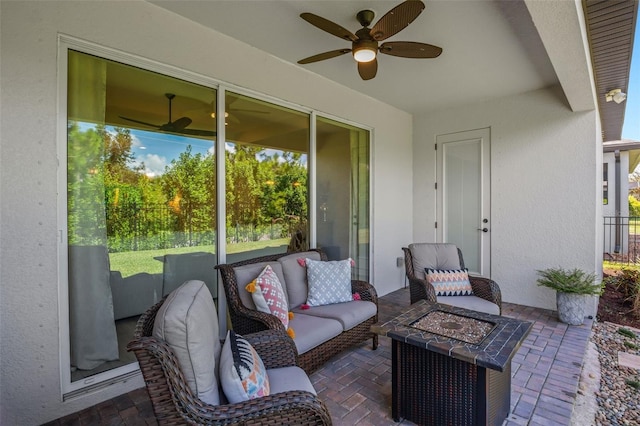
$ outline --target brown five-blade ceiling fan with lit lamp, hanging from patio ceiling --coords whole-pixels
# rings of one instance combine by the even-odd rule
[[[375,17],[372,10],[362,10],[356,19],[362,28],[353,34],[342,26],[313,13],[302,13],[300,17],[321,30],[351,42],[351,49],[338,49],[309,56],[298,61],[299,64],[323,61],[352,52],[358,62],[358,73],[363,80],[370,80],[378,72],[377,53],[399,56],[402,58],[435,58],[442,53],[442,48],[415,41],[379,42],[405,29],[424,10],[420,0],[407,0],[387,12],[376,24],[369,28]]]

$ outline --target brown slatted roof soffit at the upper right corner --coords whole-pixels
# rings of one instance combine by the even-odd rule
[[[619,141],[622,138],[626,103],[606,102],[605,95],[613,89],[622,89],[627,93],[638,2],[587,0],[584,9],[602,139],[605,142]]]

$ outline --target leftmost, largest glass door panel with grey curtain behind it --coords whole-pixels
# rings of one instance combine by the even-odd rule
[[[135,362],[136,321],[189,279],[217,297],[216,90],[68,52],[70,381]]]

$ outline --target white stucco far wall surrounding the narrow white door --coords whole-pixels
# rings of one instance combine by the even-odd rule
[[[553,88],[414,122],[414,241],[434,239],[434,173],[425,165],[435,165],[436,135],[490,127],[491,277],[503,300],[555,309],[555,293],[536,285],[536,270],[601,268],[595,111],[572,112]]]

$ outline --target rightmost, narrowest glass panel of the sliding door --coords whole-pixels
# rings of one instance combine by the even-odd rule
[[[329,260],[351,257],[369,279],[369,132],[319,117],[316,124],[318,247]]]

